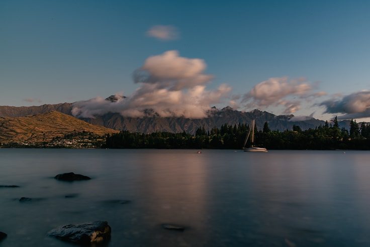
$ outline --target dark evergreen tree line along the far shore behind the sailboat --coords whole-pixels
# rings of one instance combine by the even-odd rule
[[[120,133],[108,135],[103,148],[118,149],[241,149],[249,125],[222,125],[220,129],[205,130],[198,128],[195,135],[183,131],[182,133],[155,132],[150,134]],[[257,130],[255,126],[256,146],[267,149],[292,149],[292,150],[334,150],[334,149],[359,149],[370,150],[370,125],[364,122],[358,126],[356,120],[351,120],[349,131],[339,128],[337,117],[333,124],[325,122],[315,129],[302,131],[299,126],[292,130],[272,131],[268,122],[263,128]],[[246,147],[251,145],[247,141]]]

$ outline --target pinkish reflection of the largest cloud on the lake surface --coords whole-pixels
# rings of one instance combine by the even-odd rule
[[[206,241],[207,168],[209,160],[195,151],[167,151],[142,156],[138,193],[142,197],[143,220],[149,231],[141,243],[153,246],[192,246]],[[186,228],[185,232],[164,230],[169,223]]]

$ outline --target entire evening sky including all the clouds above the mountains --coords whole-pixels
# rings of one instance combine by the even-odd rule
[[[369,1],[0,1],[0,105],[370,117]],[[104,98],[125,95],[119,102]]]

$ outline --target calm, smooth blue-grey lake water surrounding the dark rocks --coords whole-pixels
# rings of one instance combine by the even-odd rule
[[[70,171],[93,179],[52,178]],[[0,149],[0,185],[13,184],[2,246],[74,246],[46,232],[94,220],[111,225],[109,246],[370,246],[364,151]]]

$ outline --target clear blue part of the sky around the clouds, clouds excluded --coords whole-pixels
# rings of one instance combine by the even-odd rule
[[[322,115],[325,106],[312,105],[339,97],[332,100],[339,106],[340,97],[370,88],[369,11],[368,1],[3,0],[0,105],[131,95],[139,87],[134,71],[176,50],[204,60],[204,73],[214,76],[208,90],[226,83],[240,97],[269,78],[304,77],[327,95],[300,98],[293,114],[329,118],[333,110]],[[148,36],[156,25],[173,27],[178,37]]]

